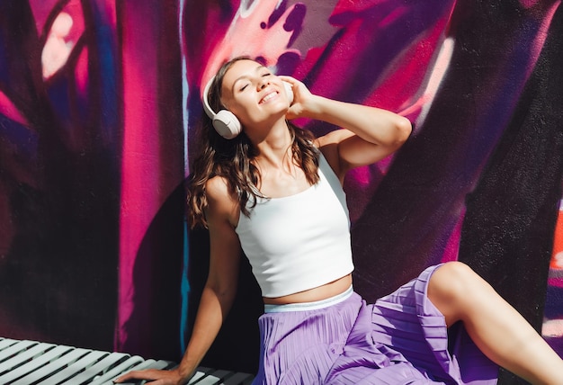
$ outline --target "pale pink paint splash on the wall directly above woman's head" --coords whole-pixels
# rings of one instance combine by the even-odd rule
[[[286,52],[299,54],[296,49],[287,49],[293,31],[283,29],[283,23],[295,8],[295,4],[290,6],[272,27],[264,29],[261,26],[263,22],[268,21],[270,15],[275,11],[276,5],[277,2],[274,1],[255,0],[250,5],[246,1],[241,2],[225,38],[218,43],[210,55],[209,66],[201,78],[201,92],[203,85],[228,58],[241,55],[251,58],[262,57],[265,59],[266,67],[271,67]],[[241,44],[241,42],[247,43]],[[250,42],[252,43],[250,44]]]

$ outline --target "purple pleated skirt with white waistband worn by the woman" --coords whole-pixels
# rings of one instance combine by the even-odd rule
[[[253,384],[495,384],[498,366],[426,296],[437,267],[372,305],[350,292],[266,312]]]

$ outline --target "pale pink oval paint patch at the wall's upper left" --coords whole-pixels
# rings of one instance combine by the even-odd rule
[[[68,56],[74,47],[73,41],[66,40],[72,25],[72,17],[64,12],[59,13],[57,19],[53,22],[49,37],[41,54],[44,79],[53,76],[67,63]]]

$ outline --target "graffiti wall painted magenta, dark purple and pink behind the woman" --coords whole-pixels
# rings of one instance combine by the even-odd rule
[[[563,354],[562,30],[560,0],[0,1],[0,336],[179,359],[207,268],[183,204],[201,85],[248,55],[415,124],[345,181],[357,291],[459,259]],[[206,363],[250,372],[241,282]]]

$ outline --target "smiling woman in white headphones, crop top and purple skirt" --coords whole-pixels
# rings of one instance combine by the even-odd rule
[[[311,94],[247,58],[221,67],[205,96],[211,117],[225,108],[243,132],[208,130],[193,167],[190,215],[209,228],[210,273],[192,338],[177,369],[118,382],[190,378],[231,306],[242,248],[264,297],[256,384],[496,383],[496,364],[563,384],[559,356],[465,264],[430,267],[375,305],[353,292],[344,175],[400,148],[407,119]],[[342,130],[315,139],[287,121],[301,117]]]

